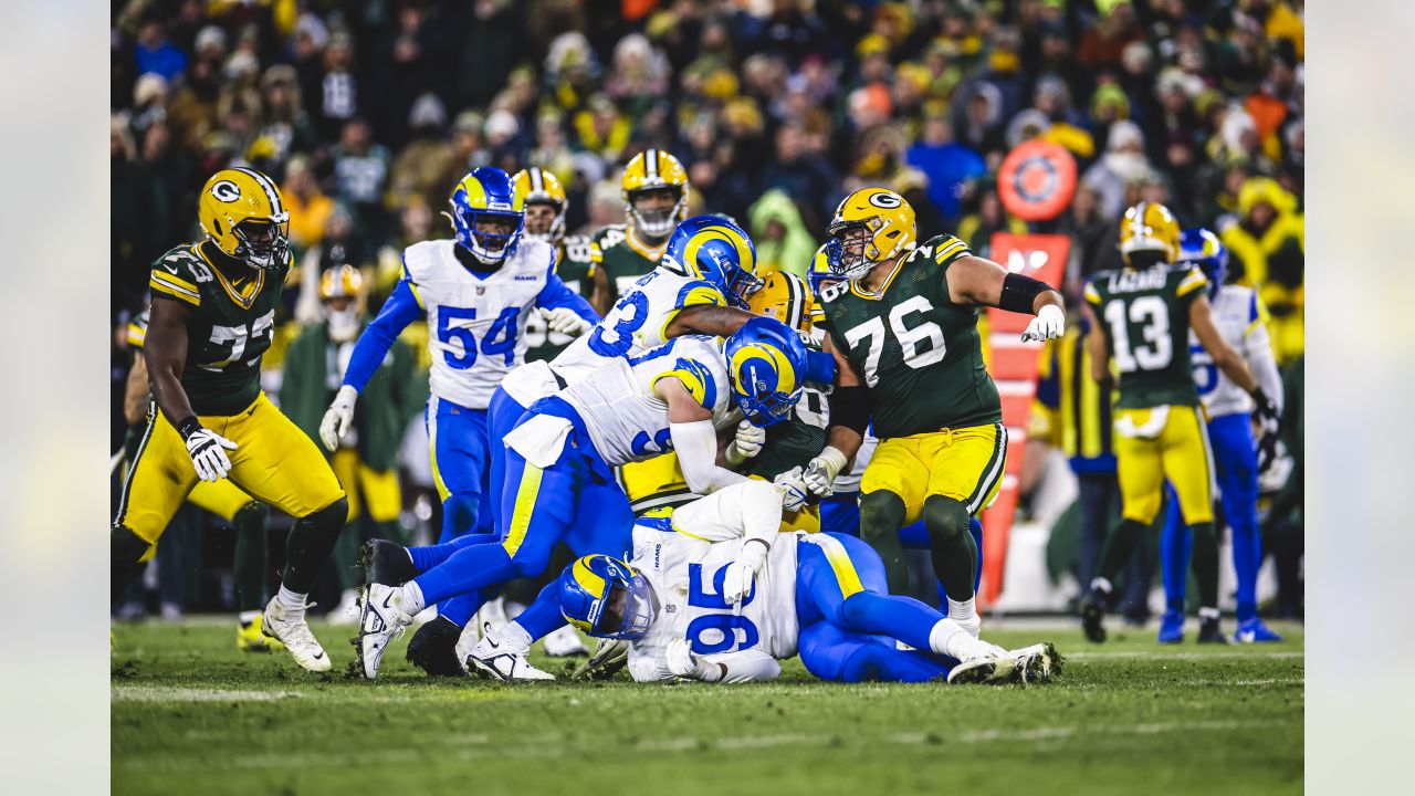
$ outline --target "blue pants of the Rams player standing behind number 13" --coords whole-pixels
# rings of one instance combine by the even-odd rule
[[[1224,415],[1208,421],[1208,443],[1214,452],[1223,517],[1232,530],[1234,572],[1238,579],[1238,622],[1258,616],[1258,569],[1262,567],[1262,535],[1258,533],[1258,449],[1248,415]],[[1184,609],[1191,535],[1179,513],[1173,487],[1160,554],[1165,565],[1165,602]]]

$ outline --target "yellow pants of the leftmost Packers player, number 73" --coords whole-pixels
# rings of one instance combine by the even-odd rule
[[[198,416],[202,426],[236,443],[228,450],[231,483],[255,500],[291,517],[306,517],[344,497],[338,479],[314,442],[262,392],[229,416]],[[183,500],[201,483],[181,435],[153,412],[123,483],[115,524],[157,544]],[[239,508],[239,506],[238,506]]]

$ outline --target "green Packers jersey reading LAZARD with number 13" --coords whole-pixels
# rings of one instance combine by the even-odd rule
[[[1189,357],[1189,305],[1208,280],[1197,268],[1165,263],[1102,271],[1085,285],[1105,347],[1121,373],[1116,406],[1197,406]]]

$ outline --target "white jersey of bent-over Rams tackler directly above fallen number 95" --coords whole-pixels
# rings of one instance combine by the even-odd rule
[[[732,399],[727,361],[716,337],[675,337],[634,358],[611,357],[560,391],[584,421],[594,449],[610,466],[652,459],[672,449],[668,402],[654,392],[659,378],[676,377],[710,411],[716,428],[741,419]]]

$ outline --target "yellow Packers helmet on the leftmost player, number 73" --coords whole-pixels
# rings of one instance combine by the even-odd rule
[[[222,169],[207,180],[197,203],[207,239],[250,268],[284,265],[290,212],[280,188],[255,169]]]

